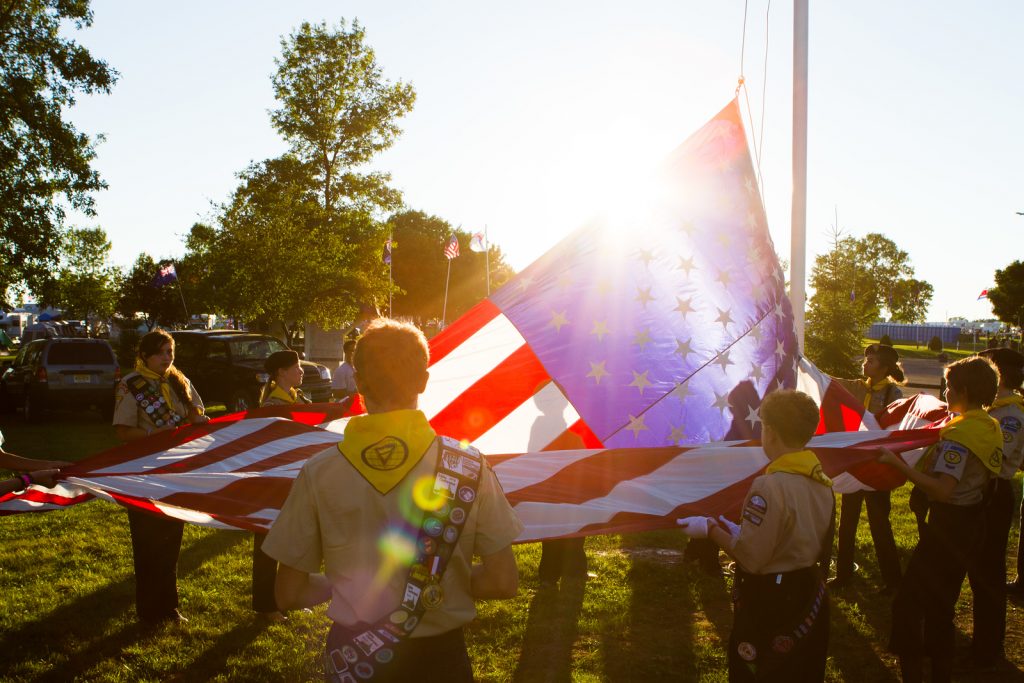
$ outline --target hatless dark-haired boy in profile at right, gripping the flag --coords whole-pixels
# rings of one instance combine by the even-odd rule
[[[1002,466],[999,423],[984,407],[995,399],[999,374],[987,358],[946,367],[946,403],[958,414],[916,466],[888,449],[879,462],[898,469],[927,496],[928,521],[893,600],[889,649],[899,655],[905,683],[952,677],[956,600],[984,535],[985,492]]]

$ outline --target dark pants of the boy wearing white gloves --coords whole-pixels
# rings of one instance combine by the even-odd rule
[[[828,611],[828,594],[817,566],[781,574],[737,571],[729,681],[823,681]]]

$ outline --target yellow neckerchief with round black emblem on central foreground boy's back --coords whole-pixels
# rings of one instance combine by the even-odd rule
[[[373,487],[386,494],[401,481],[437,437],[420,411],[389,411],[352,418],[338,451]]]

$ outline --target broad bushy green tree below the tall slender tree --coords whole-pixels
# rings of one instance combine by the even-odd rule
[[[219,309],[286,329],[331,328],[386,300],[387,275],[372,265],[384,243],[378,222],[357,211],[329,222],[308,165],[292,155],[254,164],[241,177],[219,227],[194,229],[185,259],[207,259],[214,280],[201,289],[215,289]]]

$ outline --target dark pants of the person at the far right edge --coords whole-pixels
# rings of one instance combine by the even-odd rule
[[[1009,479],[993,479],[985,505],[985,536],[968,569],[974,594],[974,642],[978,659],[1002,654],[1007,635],[1007,542],[1014,518],[1014,493]]]

